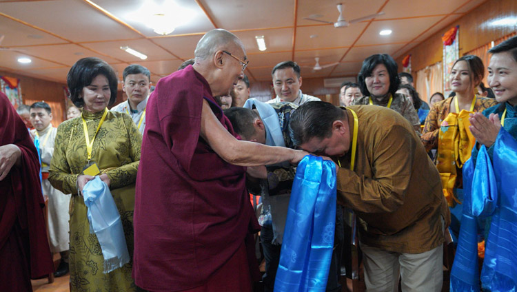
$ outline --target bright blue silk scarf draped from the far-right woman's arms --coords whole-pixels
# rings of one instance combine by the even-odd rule
[[[450,291],[516,291],[517,287],[517,142],[503,128],[490,160],[481,146],[476,165],[463,167],[463,217],[451,272]],[[492,163],[493,161],[493,163]],[[491,216],[485,260],[478,273],[478,218]]]

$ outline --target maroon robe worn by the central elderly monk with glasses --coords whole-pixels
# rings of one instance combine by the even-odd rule
[[[134,208],[133,275],[143,289],[207,284],[250,231],[259,230],[245,167],[226,163],[199,136],[203,100],[235,136],[210,85],[192,66],[161,79],[149,98]],[[253,246],[250,251],[247,262],[257,277]],[[227,279],[235,276],[230,272]]]

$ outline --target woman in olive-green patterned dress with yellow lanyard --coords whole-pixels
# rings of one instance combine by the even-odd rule
[[[132,260],[103,273],[103,254],[95,233],[90,233],[88,208],[81,196],[95,176],[108,185],[120,213],[129,254],[133,251],[134,183],[142,137],[127,114],[110,112],[117,80],[112,67],[97,58],[83,58],[67,76],[70,99],[83,107],[78,118],[57,129],[48,180],[70,200],[70,284],[72,291],[133,291]]]

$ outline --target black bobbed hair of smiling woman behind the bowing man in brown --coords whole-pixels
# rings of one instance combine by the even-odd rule
[[[358,81],[363,96],[370,95],[368,88],[366,87],[365,79],[366,77],[372,76],[372,72],[378,64],[384,64],[386,66],[387,72],[389,74],[388,92],[390,94],[395,94],[395,92],[398,90],[398,85],[401,84],[401,79],[397,74],[398,65],[392,56],[389,56],[389,54],[374,54],[363,61],[363,66],[359,72]]]

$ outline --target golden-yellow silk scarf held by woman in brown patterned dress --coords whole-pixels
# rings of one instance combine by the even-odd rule
[[[470,111],[461,110],[459,114],[450,112],[443,120],[438,134],[436,168],[440,172],[443,195],[449,207],[454,207],[455,202],[460,203],[453,193],[457,178],[456,167],[462,168],[463,164],[469,160],[472,148],[476,143],[476,139],[469,130],[469,114],[474,113],[475,103],[476,97],[472,101]]]

